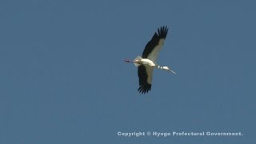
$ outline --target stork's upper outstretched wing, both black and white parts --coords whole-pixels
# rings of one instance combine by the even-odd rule
[[[154,33],[153,38],[146,44],[146,47],[142,53],[142,58],[148,58],[153,62],[156,62],[158,53],[162,48],[162,45],[166,39],[168,33],[167,26],[158,28],[158,32]]]

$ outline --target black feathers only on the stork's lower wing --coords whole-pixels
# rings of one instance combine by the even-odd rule
[[[138,92],[145,94],[151,90],[151,84],[147,82],[147,74],[146,74],[146,67],[141,65],[138,66]]]

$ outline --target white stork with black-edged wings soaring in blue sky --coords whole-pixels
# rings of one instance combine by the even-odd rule
[[[154,33],[153,38],[146,44],[142,57],[137,56],[134,61],[125,60],[125,62],[132,62],[135,66],[138,66],[139,93],[145,94],[151,90],[154,68],[168,70],[176,74],[168,66],[159,66],[157,64],[158,53],[166,39],[167,32],[167,26],[158,28],[158,32]]]

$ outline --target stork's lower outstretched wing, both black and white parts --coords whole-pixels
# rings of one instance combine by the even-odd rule
[[[138,92],[145,94],[151,90],[151,82],[153,76],[153,67],[150,66],[138,66]]]

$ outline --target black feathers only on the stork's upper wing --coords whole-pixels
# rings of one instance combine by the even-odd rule
[[[161,38],[166,38],[167,33],[168,33],[167,26],[162,26],[158,28],[158,33],[154,33],[154,36],[150,40],[150,42],[147,42],[145,49],[142,53],[142,58],[147,58],[147,56],[151,53],[154,47],[158,45],[159,40]]]

